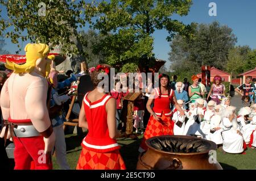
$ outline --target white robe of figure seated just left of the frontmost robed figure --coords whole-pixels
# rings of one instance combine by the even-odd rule
[[[212,116],[212,119],[210,119],[210,129],[213,130],[213,128],[219,128],[219,127],[221,129],[218,129],[214,133],[210,133],[210,141],[215,142],[217,145],[223,143],[223,139],[221,136],[221,132],[223,131],[222,129],[223,125],[221,123],[221,116],[215,114],[214,116]]]

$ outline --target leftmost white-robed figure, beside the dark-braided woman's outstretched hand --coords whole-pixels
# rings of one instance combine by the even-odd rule
[[[184,102],[183,100],[177,100],[177,103],[180,105],[180,107],[185,111],[184,109]],[[187,112],[183,116],[180,116],[180,111],[174,110],[174,113],[172,115],[172,120],[174,121],[174,135],[185,135],[184,134],[184,128],[185,128],[185,118],[187,116]]]

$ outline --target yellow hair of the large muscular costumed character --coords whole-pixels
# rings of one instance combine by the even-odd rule
[[[36,66],[36,60],[39,58],[45,58],[49,53],[49,47],[46,44],[27,44],[24,48],[26,52],[26,63],[23,65],[15,64],[6,60],[6,68],[14,70],[14,73],[31,73]],[[49,65],[47,65],[49,69]],[[46,69],[47,70],[47,69]],[[49,72],[49,70],[47,70]]]

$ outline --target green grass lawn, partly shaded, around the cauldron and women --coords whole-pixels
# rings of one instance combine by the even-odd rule
[[[81,141],[84,135],[77,136],[76,134],[66,135],[67,143],[67,159],[71,169],[76,169],[76,164],[81,152]],[[142,136],[139,140],[131,140],[130,138],[118,140],[121,145],[121,155],[125,161],[127,169],[136,169],[138,160],[138,148],[141,143]],[[248,148],[246,154],[229,154],[222,153],[217,150],[217,161],[221,164],[223,169],[256,169],[256,150]],[[53,157],[53,169],[60,169],[56,163],[56,157]]]

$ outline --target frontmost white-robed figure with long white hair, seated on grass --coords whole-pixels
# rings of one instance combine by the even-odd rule
[[[242,153],[243,152],[243,137],[240,132],[240,127],[236,119],[236,107],[229,106],[222,112],[222,123],[224,131],[222,131],[223,147],[227,153]]]

